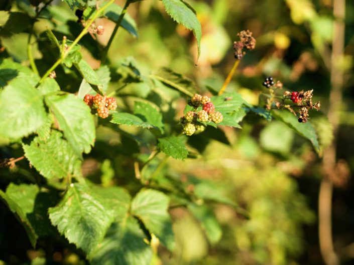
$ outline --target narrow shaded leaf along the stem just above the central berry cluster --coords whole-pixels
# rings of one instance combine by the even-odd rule
[[[192,80],[169,68],[162,68],[155,75],[151,75],[150,77],[161,81],[165,85],[168,85],[189,97],[192,97],[196,93],[196,86]]]

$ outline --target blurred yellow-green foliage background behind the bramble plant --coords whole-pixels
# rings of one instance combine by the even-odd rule
[[[123,1],[117,3],[124,4]],[[332,104],[329,100],[332,1],[190,0],[188,3],[196,10],[202,25],[198,61],[191,32],[176,25],[164,12],[161,2],[146,0],[130,6],[129,14],[137,22],[139,38],[119,30],[108,55],[112,66],[119,68],[123,61],[134,60],[145,74],[168,66],[194,80],[201,94],[208,94],[208,90],[218,91],[222,86],[234,63],[232,43],[238,41],[238,32],[248,29],[257,40],[256,49],[242,59],[226,91],[236,91],[250,104],[258,105],[259,95],[264,92],[264,77],[273,76],[290,91],[313,89],[314,102],[320,100],[322,111],[328,112]],[[64,10],[67,9],[61,7],[60,1],[52,9],[66,16]],[[75,19],[73,14],[68,16]],[[353,1],[346,1],[344,23],[344,56],[334,58],[344,83],[343,98],[337,102],[336,110],[339,125],[335,154],[341,170],[336,179],[331,179],[335,184],[332,232],[340,264],[354,264]],[[113,23],[107,20],[101,19],[97,25],[100,24],[107,33],[113,30]],[[40,20],[35,29],[41,32],[46,26],[46,20]],[[108,39],[109,34],[105,34],[98,41],[105,44]],[[4,40],[3,45],[9,54],[13,53],[19,60],[26,59],[26,53],[19,52],[21,47],[7,45]],[[92,67],[99,67],[99,62],[88,52],[85,55]],[[119,83],[114,83],[114,78],[112,81],[111,87]],[[123,89],[121,95],[151,99],[152,92],[149,86],[133,83]],[[176,113],[171,120],[177,123],[186,102],[171,91],[164,97],[173,101]],[[165,105],[160,107],[163,111],[169,109]],[[190,214],[193,209],[172,208],[177,249],[171,254],[158,247],[159,255],[154,257],[153,264],[323,264],[318,239],[318,195],[324,175],[322,158],[308,141],[283,123],[248,115],[241,125],[242,129],[209,132],[213,134],[211,141],[202,135],[192,136],[189,144],[201,155],[184,162],[170,159],[161,172],[168,176],[170,183],[182,180],[187,190],[208,193],[210,198],[219,200],[223,196],[225,200],[231,198],[242,209],[235,211],[225,204],[214,203],[213,212],[199,213],[199,216],[215,214],[220,229],[213,221],[200,225]],[[124,129],[144,139],[151,137],[141,130]],[[113,138],[117,142],[109,140]],[[126,179],[134,176],[134,172],[126,155],[134,151],[126,149],[129,143],[124,143],[125,140],[99,127],[96,148],[83,163],[84,174],[97,170],[102,173],[102,182],[109,182],[115,174],[117,183],[127,184]],[[104,160],[109,153],[107,144],[122,148],[113,164]],[[208,184],[208,181],[213,182]],[[214,243],[208,243],[207,239]],[[27,252],[27,255],[30,254]],[[65,254],[63,259],[65,264],[80,262],[83,261],[78,261],[72,253]]]

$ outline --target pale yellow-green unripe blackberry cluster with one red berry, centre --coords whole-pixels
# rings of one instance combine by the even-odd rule
[[[222,122],[222,114],[215,111],[215,106],[211,103],[209,97],[194,94],[188,104],[194,108],[194,111],[188,111],[186,115],[181,118],[183,132],[186,135],[190,136],[204,131],[205,125],[201,122]],[[199,107],[202,107],[202,109],[197,111]]]

